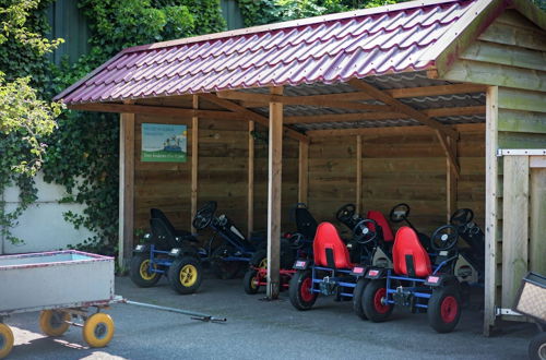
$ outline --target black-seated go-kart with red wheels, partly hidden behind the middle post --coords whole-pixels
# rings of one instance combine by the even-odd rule
[[[317,232],[317,220],[304,203],[296,204],[292,217],[296,223],[297,231],[284,235],[284,239],[286,239],[293,251],[290,259],[309,259],[312,256],[312,240]],[[288,266],[281,266],[280,269],[281,290],[288,288],[292,276],[296,273],[296,271],[292,268],[293,264],[294,263],[287,263],[285,260],[282,261],[282,265]],[[245,292],[248,295],[258,293],[260,287],[268,285],[266,263],[262,265],[263,266],[256,266],[250,262],[250,266],[247,273],[245,273],[242,284]]]

